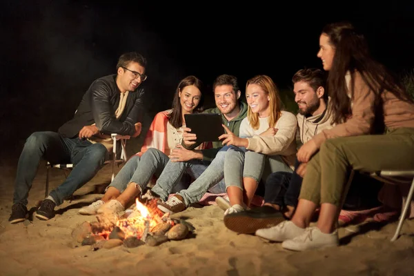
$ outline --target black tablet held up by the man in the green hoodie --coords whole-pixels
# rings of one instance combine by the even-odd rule
[[[217,113],[184,114],[184,118],[186,127],[197,135],[196,142],[220,141],[219,136],[226,133],[221,126],[221,115]]]

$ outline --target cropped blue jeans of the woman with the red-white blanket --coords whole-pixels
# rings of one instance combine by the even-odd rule
[[[144,190],[151,180],[152,175],[157,178],[161,176],[161,172],[163,172],[167,164],[171,163],[168,162],[169,160],[170,158],[164,152],[161,152],[161,150],[148,148],[141,157],[138,155],[131,157],[125,166],[119,170],[117,176],[108,188],[117,188],[122,193],[128,184],[135,182],[141,190]]]

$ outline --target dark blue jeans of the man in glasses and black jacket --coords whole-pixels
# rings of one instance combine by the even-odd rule
[[[41,159],[51,164],[75,165],[66,180],[49,194],[60,205],[97,174],[106,157],[108,150],[102,144],[92,144],[79,137],[66,138],[51,131],[32,133],[26,139],[17,164],[13,204],[28,204],[29,191]]]

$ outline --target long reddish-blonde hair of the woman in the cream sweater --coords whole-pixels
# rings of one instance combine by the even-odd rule
[[[257,75],[251,79],[249,79],[246,83],[246,91],[247,87],[250,84],[256,84],[264,92],[269,96],[269,108],[270,108],[270,118],[268,120],[269,122],[269,128],[273,128],[275,126],[277,120],[280,118],[280,115],[282,115],[282,107],[281,107],[281,101],[279,97],[279,90],[277,89],[276,84],[273,82],[273,80],[266,76],[266,75]],[[257,130],[259,129],[260,123],[259,123],[259,114],[253,113],[250,106],[248,106],[247,109],[247,119],[252,126],[253,129]]]

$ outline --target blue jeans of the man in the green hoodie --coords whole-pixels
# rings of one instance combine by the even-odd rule
[[[183,173],[187,172],[195,181],[190,184],[188,189],[181,190],[178,193],[184,198],[186,206],[198,202],[208,190],[210,190],[210,193],[226,193],[223,167],[227,149],[228,147],[221,148],[210,164],[201,160],[168,162],[157,180],[157,184],[151,189],[152,192],[165,201],[170,195],[170,190],[181,179]]]

